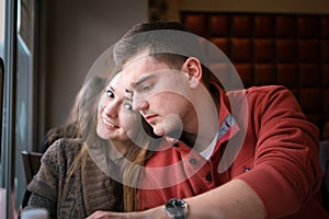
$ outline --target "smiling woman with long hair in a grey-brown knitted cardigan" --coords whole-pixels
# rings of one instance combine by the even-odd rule
[[[50,218],[86,218],[95,210],[135,209],[132,185],[149,152],[136,146],[137,138],[129,138],[138,134],[136,119],[140,116],[124,103],[120,79],[121,74],[113,78],[97,106],[80,105],[83,138],[59,139],[45,152],[38,173],[27,186],[32,196],[24,209],[45,208]],[[132,172],[137,172],[135,178],[128,177]],[[127,185],[118,183],[121,180]]]

